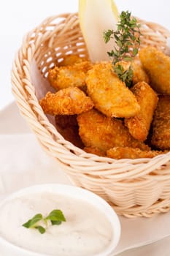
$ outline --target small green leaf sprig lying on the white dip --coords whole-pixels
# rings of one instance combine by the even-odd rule
[[[23,227],[26,228],[35,228],[39,230],[39,233],[44,234],[48,227],[48,220],[51,225],[61,225],[62,222],[66,222],[66,218],[63,215],[61,210],[53,210],[47,217],[42,217],[42,214],[36,214],[32,219],[29,219],[28,222],[23,224]],[[42,225],[39,225],[39,222],[42,222]]]

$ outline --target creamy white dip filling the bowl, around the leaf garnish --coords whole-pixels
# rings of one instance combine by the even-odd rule
[[[51,225],[46,233],[27,229],[23,223],[35,214],[47,216],[61,209],[66,222]],[[0,208],[0,236],[12,244],[54,256],[93,256],[104,251],[112,239],[112,227],[98,208],[53,192],[20,195]]]

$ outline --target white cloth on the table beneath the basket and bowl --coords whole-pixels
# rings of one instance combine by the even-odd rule
[[[34,184],[71,184],[58,162],[42,151],[35,135],[16,111],[12,105],[0,113],[0,200],[15,190]],[[2,118],[4,116],[6,120]],[[168,256],[170,212],[150,219],[120,217],[120,222],[122,234],[114,255],[143,246],[119,256]],[[159,242],[151,244],[154,241]]]

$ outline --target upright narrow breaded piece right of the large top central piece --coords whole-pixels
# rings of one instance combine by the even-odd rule
[[[155,91],[145,82],[136,83],[131,89],[140,105],[139,113],[131,118],[125,119],[128,131],[137,140],[146,140],[152,122],[158,97]]]

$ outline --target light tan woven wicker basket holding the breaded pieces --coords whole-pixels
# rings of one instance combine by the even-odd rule
[[[165,50],[170,32],[155,23],[139,22],[141,47],[154,45]],[[20,113],[74,184],[104,197],[117,214],[152,217],[169,211],[170,153],[120,160],[87,154],[64,140],[53,120],[43,113],[39,99],[52,89],[47,82],[48,69],[70,53],[88,57],[77,14],[47,18],[26,35],[12,68],[12,91]]]

